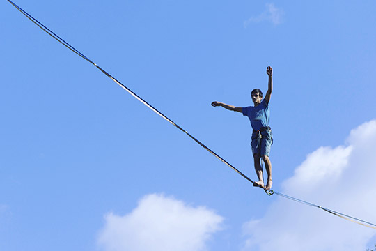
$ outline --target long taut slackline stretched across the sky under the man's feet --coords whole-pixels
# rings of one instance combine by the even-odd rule
[[[133,91],[131,91],[130,89],[128,89],[127,86],[125,86],[124,84],[121,84],[118,80],[116,80],[114,77],[112,77],[109,73],[107,73],[105,70],[103,70],[102,68],[100,68],[100,66],[98,66],[96,63],[94,63],[93,61],[91,61],[90,59],[88,59],[84,54],[82,54],[81,52],[79,52],[78,50],[76,50],[75,47],[72,47],[72,45],[70,45],[69,43],[65,42],[65,40],[63,40],[63,38],[60,38],[59,36],[57,36],[56,33],[54,33],[53,31],[51,31],[50,29],[48,29],[45,25],[41,24],[38,20],[36,20],[31,15],[29,15],[29,13],[26,13],[26,11],[22,10],[22,8],[19,8],[19,6],[17,6],[15,3],[13,3],[13,1],[8,0],[8,2],[10,2],[15,8],[17,8],[17,10],[19,10],[27,18],[29,18],[29,20],[31,20],[31,22],[33,22],[40,29],[42,29],[47,34],[49,34],[49,36],[52,36],[52,38],[58,40],[59,43],[61,43],[65,47],[67,47],[69,50],[71,50],[72,52],[75,52],[75,54],[81,56],[81,58],[83,58],[86,61],[88,61],[89,63],[93,64],[96,68],[98,68],[98,70],[100,70],[102,73],[104,73],[105,75],[107,75],[107,77],[109,77],[110,79],[112,79],[113,82],[116,82],[116,84],[118,84],[121,88],[125,89],[125,91],[127,91],[132,96],[134,96],[134,98],[136,98],[137,100],[139,100],[140,102],[142,102],[143,105],[146,105],[147,107],[149,107],[150,109],[152,109],[153,112],[155,112],[159,116],[162,116],[163,119],[166,119],[166,121],[169,121],[171,124],[173,124],[173,126],[175,126],[176,128],[178,128],[182,132],[185,132],[185,134],[187,134],[197,144],[199,144],[200,146],[202,146],[208,152],[212,153],[212,155],[214,155],[216,158],[218,158],[219,160],[221,160],[221,162],[224,162],[224,164],[228,165],[228,167],[231,167],[235,172],[237,172],[238,174],[240,174],[241,176],[243,176],[243,178],[245,178],[247,181],[249,181],[249,182],[253,183],[253,185],[255,185],[255,181],[252,181],[251,178],[247,177],[245,174],[243,174],[238,169],[236,169],[235,167],[233,167],[233,165],[230,165],[230,163],[228,163],[226,160],[224,160],[224,158],[221,158],[221,156],[219,156],[217,153],[214,153],[214,151],[210,150],[207,146],[205,146],[203,143],[201,143],[200,141],[198,141],[198,139],[196,139],[195,137],[193,137],[192,135],[190,135],[186,130],[184,130],[183,128],[181,128],[180,126],[178,126],[178,124],[176,124],[171,119],[169,119],[164,114],[162,114],[162,112],[159,112],[157,109],[155,109],[155,107],[152,107],[152,105],[150,105],[148,102],[146,102],[145,100],[143,100],[140,96],[138,96],[136,93],[134,93]],[[276,192],[276,191],[273,191],[273,190],[266,190],[265,192],[267,193],[267,195],[274,195],[274,194],[276,194],[276,195],[279,195],[281,197],[285,197],[286,199],[290,199],[292,201],[297,201],[299,203],[306,204],[307,206],[313,206],[313,207],[316,207],[316,208],[320,208],[323,211],[326,211],[327,213],[331,213],[331,214],[336,215],[336,216],[338,216],[340,218],[343,218],[345,220],[350,220],[350,221],[352,221],[354,223],[357,223],[359,225],[376,229],[376,225],[375,224],[370,223],[370,222],[366,222],[364,220],[360,220],[358,218],[354,218],[354,217],[352,217],[350,215],[345,215],[343,213],[339,213],[339,212],[333,211],[333,210],[331,210],[329,208],[324,208],[322,206],[318,206],[318,205],[309,203],[307,201],[303,201],[301,199],[290,197],[288,195],[283,195],[281,192]]]

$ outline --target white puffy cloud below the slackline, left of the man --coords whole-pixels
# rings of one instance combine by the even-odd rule
[[[164,195],[147,195],[129,214],[108,213],[98,243],[106,251],[198,251],[223,218]]]

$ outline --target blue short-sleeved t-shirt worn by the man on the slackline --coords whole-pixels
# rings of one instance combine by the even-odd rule
[[[242,107],[243,116],[247,116],[251,121],[253,130],[260,130],[264,126],[269,126],[269,105],[263,99],[257,107]]]

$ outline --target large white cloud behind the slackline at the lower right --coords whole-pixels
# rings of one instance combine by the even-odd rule
[[[376,120],[350,132],[346,146],[320,147],[283,183],[282,193],[376,222]],[[273,195],[277,196],[278,195]],[[366,250],[375,229],[278,197],[244,224],[243,250]]]

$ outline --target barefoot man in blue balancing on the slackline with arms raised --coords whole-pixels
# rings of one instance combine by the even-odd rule
[[[267,75],[269,76],[268,88],[265,98],[260,89],[254,89],[251,92],[251,98],[254,106],[235,107],[226,105],[223,102],[212,102],[213,107],[221,106],[230,111],[242,112],[243,116],[248,116],[253,128],[252,133],[252,153],[258,181],[254,186],[264,188],[266,191],[272,188],[272,164],[269,160],[270,146],[273,144],[272,130],[269,127],[269,101],[273,91],[273,69],[267,66]],[[265,162],[267,171],[267,185],[264,186],[263,168],[260,165],[260,158]]]

